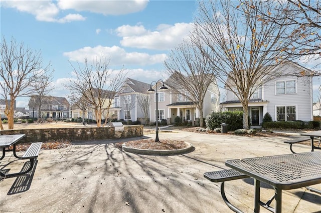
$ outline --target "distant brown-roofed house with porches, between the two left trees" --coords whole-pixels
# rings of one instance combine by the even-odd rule
[[[32,95],[28,105],[30,117],[51,117],[54,119],[69,117],[70,104],[65,97]],[[39,107],[41,107],[41,114],[38,116]]]

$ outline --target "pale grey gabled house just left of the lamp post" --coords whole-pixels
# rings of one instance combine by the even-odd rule
[[[147,89],[149,87],[148,83],[126,78],[120,91],[115,96],[114,107],[111,109],[116,111],[118,120],[144,121],[144,111],[147,110],[148,112],[149,109],[148,106],[144,108],[139,102],[142,100],[148,101],[146,97],[148,97]]]

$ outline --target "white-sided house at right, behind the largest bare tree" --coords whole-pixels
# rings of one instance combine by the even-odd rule
[[[312,120],[312,77],[293,74],[311,70],[287,61],[275,65],[273,72],[281,74],[260,86],[250,98],[247,110],[251,125],[261,125],[266,112],[274,121]],[[223,111],[243,110],[235,93],[227,89],[221,105]]]

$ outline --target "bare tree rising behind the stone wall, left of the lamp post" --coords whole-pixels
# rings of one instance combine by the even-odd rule
[[[110,69],[109,60],[102,55],[96,57],[92,63],[85,58],[84,66],[79,62],[77,64],[77,68],[71,64],[76,78],[65,86],[71,93],[81,95],[94,109],[97,126],[100,127],[103,113],[111,107],[127,73],[124,69]]]

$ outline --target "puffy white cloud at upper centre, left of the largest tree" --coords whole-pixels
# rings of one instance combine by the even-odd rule
[[[118,35],[123,36],[120,40],[123,46],[167,50],[182,42],[192,28],[192,23],[160,24],[157,31],[145,30],[140,25],[123,25],[118,27],[116,31]],[[137,32],[140,34],[137,34]]]

